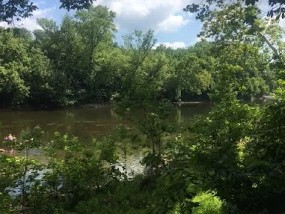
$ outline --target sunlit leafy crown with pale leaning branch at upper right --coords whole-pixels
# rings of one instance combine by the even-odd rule
[[[256,6],[243,6],[241,1],[231,5],[221,5],[220,10],[213,10],[205,17],[199,36],[213,38],[216,42],[227,44],[234,41],[264,44],[278,56],[278,50],[284,30],[278,21],[271,19],[253,19],[260,15]]]

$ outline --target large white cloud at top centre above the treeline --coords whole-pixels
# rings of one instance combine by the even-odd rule
[[[194,0],[97,0],[94,5],[103,5],[116,12],[115,22],[126,31],[158,30],[173,32],[186,25],[191,16],[183,8]]]

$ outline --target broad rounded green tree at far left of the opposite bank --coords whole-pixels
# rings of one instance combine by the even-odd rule
[[[1,105],[58,105],[64,83],[61,73],[55,72],[39,48],[30,47],[29,40],[14,35],[13,31],[0,32]]]

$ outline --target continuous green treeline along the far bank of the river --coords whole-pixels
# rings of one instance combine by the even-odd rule
[[[275,87],[270,58],[254,44],[239,44],[230,50],[203,40],[177,50],[163,45],[154,48],[152,31],[135,31],[118,45],[114,18],[115,13],[98,6],[66,15],[60,24],[38,19],[42,30],[34,32],[0,29],[0,106],[49,108],[108,102],[120,93],[122,82],[133,70],[161,67],[162,97],[206,99],[220,78],[213,65],[224,60],[220,56],[225,51],[236,65],[246,66],[244,73],[235,74],[246,83],[240,98],[261,96]]]

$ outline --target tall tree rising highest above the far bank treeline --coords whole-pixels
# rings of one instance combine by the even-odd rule
[[[82,72],[77,80],[80,81],[81,88],[84,88],[82,100],[85,102],[90,103],[97,96],[96,93],[90,93],[90,91],[96,91],[94,88],[96,75],[100,70],[96,58],[101,58],[100,53],[104,49],[109,47],[110,50],[113,49],[112,39],[117,31],[113,23],[114,18],[115,13],[103,6],[90,8],[87,11],[78,11],[74,16],[78,38],[83,44],[80,56]]]

